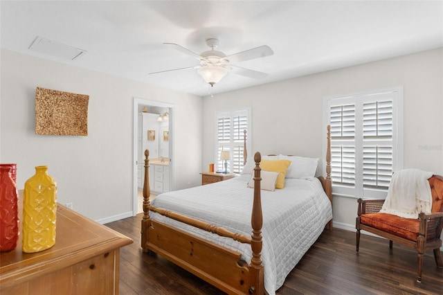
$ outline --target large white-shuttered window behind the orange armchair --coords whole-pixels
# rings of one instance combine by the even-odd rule
[[[386,197],[403,168],[402,102],[402,89],[325,98],[334,194]]]

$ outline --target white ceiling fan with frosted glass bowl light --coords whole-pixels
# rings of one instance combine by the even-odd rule
[[[237,62],[244,62],[246,60],[253,60],[255,58],[265,57],[274,54],[274,52],[269,46],[263,45],[248,49],[246,51],[235,53],[232,55],[226,55],[221,51],[215,50],[215,48],[217,48],[217,46],[219,45],[219,40],[217,38],[206,39],[206,45],[208,45],[211,49],[209,51],[204,51],[201,54],[197,54],[193,51],[190,51],[188,48],[184,48],[179,44],[175,43],[163,43],[163,44],[167,46],[172,46],[173,48],[177,49],[178,51],[181,51],[182,53],[195,57],[197,60],[200,61],[200,64],[198,66],[188,66],[186,68],[158,71],[150,74],[165,73],[169,71],[179,71],[186,69],[198,69],[197,72],[208,84],[211,85],[211,87],[215,83],[220,82],[221,78],[223,78],[229,71],[232,71],[237,75],[244,75],[249,78],[255,78],[255,79],[266,78],[268,75],[267,73],[262,73],[251,69],[245,69],[242,68],[241,66],[236,66],[235,64]]]

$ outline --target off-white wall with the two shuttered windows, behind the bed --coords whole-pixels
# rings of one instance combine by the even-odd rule
[[[206,97],[202,169],[214,161],[215,111],[226,106],[251,106],[253,152],[324,159],[323,97],[404,87],[404,167],[443,175],[442,71],[439,48]],[[334,197],[334,226],[354,229],[356,208],[356,199]]]

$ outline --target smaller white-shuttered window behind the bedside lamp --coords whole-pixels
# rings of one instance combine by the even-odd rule
[[[216,171],[224,170],[224,161],[220,160],[220,153],[223,150],[228,150],[230,152],[228,171],[234,173],[242,172],[244,130],[246,130],[246,136],[248,136],[251,130],[249,123],[250,112],[250,109],[217,112]],[[249,136],[248,138],[251,137]],[[248,143],[249,146],[251,146],[250,143]]]

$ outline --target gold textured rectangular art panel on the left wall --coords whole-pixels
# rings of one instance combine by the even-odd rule
[[[87,136],[88,102],[85,94],[37,87],[35,134]]]

